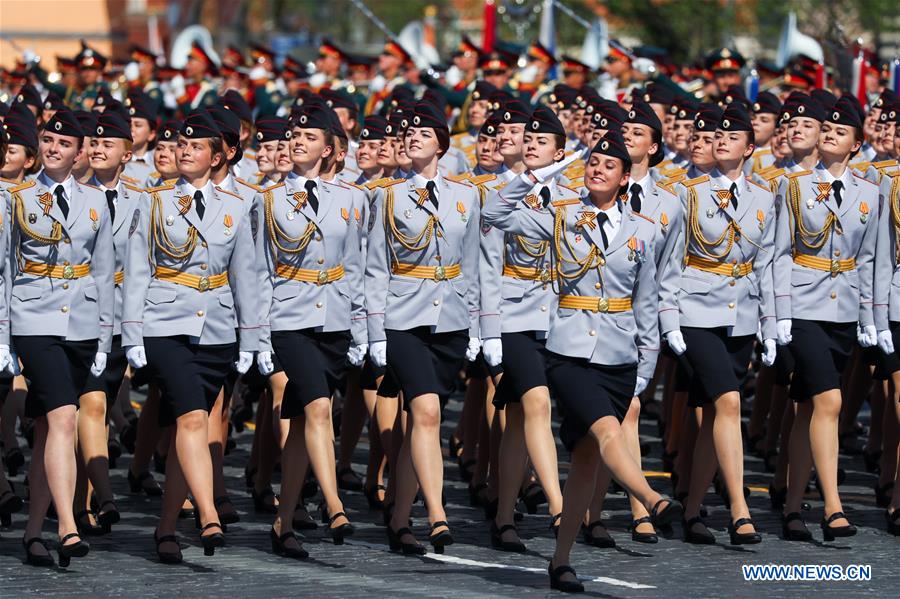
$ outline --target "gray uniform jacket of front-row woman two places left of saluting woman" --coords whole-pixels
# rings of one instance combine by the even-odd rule
[[[416,178],[392,179],[375,189],[367,221],[366,308],[369,343],[385,340],[385,329],[408,330],[429,326],[436,333],[468,330],[478,337],[478,191],[471,185],[435,178],[437,209],[419,199]],[[392,204],[388,210],[388,204]],[[429,234],[430,219],[436,219]],[[391,226],[393,223],[393,228]],[[420,241],[408,249],[396,232]],[[435,269],[443,266],[462,272],[457,277],[415,278],[393,272],[396,263]]]

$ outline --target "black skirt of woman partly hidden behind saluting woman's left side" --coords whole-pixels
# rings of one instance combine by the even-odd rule
[[[547,387],[547,340],[534,331],[503,333],[503,378],[494,393],[494,405],[522,401],[535,387]],[[485,366],[487,363],[485,363]]]

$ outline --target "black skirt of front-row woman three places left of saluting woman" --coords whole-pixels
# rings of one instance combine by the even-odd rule
[[[343,389],[347,372],[350,331],[272,331],[272,348],[288,377],[281,401],[281,417],[296,418],[320,397],[331,398]]]

